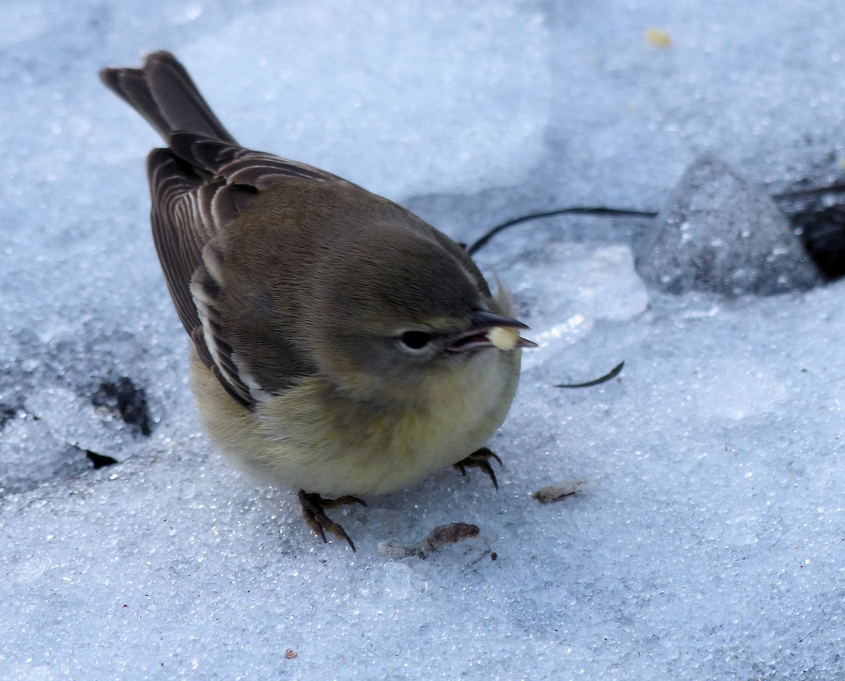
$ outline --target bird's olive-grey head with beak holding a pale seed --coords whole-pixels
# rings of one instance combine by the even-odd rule
[[[326,311],[316,319],[320,360],[345,390],[400,399],[467,362],[534,346],[507,294],[491,295],[456,244],[395,228],[380,237],[352,243],[333,271],[314,277]]]

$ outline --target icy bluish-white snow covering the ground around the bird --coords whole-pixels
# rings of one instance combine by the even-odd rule
[[[499,491],[448,470],[370,498],[337,513],[352,553],[200,433],[155,133],[96,77],[171,49],[243,144],[472,242],[662,210],[706,153],[770,192],[841,172],[841,2],[0,12],[0,678],[845,678],[845,284],[675,297],[635,270],[652,221],[502,232],[477,259],[540,347],[491,439]],[[532,498],[558,483],[578,492]],[[480,534],[395,549],[453,522]]]

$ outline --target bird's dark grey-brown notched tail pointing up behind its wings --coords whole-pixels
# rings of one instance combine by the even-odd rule
[[[100,78],[168,140],[188,130],[237,144],[217,120],[183,65],[170,52],[153,52],[141,68],[104,68]]]

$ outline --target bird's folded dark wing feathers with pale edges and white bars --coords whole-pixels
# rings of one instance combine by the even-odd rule
[[[226,322],[216,304],[223,286],[222,237],[266,188],[290,180],[345,181],[312,166],[197,133],[177,131],[169,141],[170,149],[153,150],[147,159],[153,240],[167,288],[200,359],[233,399],[252,408],[264,390],[226,342]],[[280,347],[279,352],[289,355],[277,357],[277,365],[286,368],[279,384],[308,375],[308,360],[292,346]]]

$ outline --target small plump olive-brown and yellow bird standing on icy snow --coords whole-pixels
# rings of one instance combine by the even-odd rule
[[[147,158],[155,249],[223,454],[326,515],[444,466],[485,471],[525,324],[464,248],[329,172],[239,146],[170,52],[104,68],[164,138]]]

